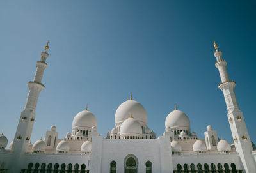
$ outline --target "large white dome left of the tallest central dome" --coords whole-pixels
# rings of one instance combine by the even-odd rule
[[[72,127],[90,127],[97,126],[97,119],[92,112],[83,110],[79,112],[73,119]]]

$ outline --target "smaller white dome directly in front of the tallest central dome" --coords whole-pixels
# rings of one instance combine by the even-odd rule
[[[127,118],[120,127],[120,134],[142,134],[141,124],[134,118]]]

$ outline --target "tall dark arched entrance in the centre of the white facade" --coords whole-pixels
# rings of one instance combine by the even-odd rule
[[[138,159],[133,154],[129,154],[124,159],[125,173],[138,173]]]

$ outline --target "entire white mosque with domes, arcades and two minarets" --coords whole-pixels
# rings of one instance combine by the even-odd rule
[[[221,77],[218,87],[227,104],[234,143],[219,139],[210,125],[205,138],[198,139],[191,131],[189,117],[176,107],[166,116],[165,132],[156,137],[147,125],[146,110],[131,95],[116,110],[115,127],[106,136],[97,132],[97,118],[86,107],[74,116],[72,130],[65,137],[59,137],[56,126],[51,126],[44,139],[31,144],[36,104],[44,89],[47,43],[36,62],[35,77],[28,82],[28,98],[10,146],[6,147],[6,136],[0,135],[0,172],[256,172],[256,147],[237,104],[236,83],[229,79],[227,62],[215,41],[214,48]]]

